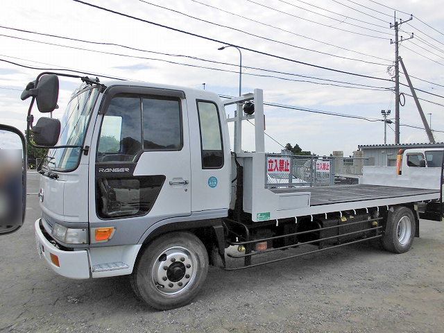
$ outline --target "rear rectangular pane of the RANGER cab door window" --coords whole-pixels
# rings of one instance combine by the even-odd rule
[[[180,100],[144,98],[144,149],[180,151],[182,122]]]

